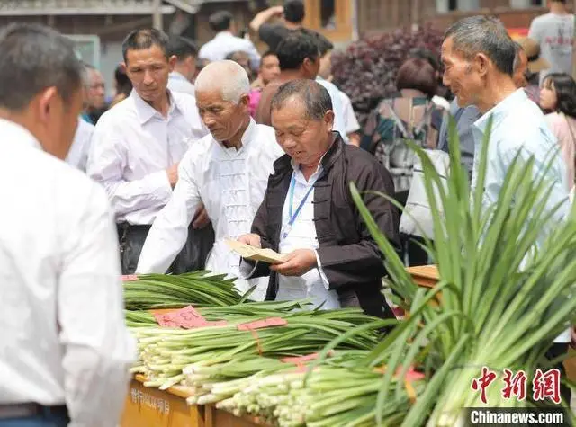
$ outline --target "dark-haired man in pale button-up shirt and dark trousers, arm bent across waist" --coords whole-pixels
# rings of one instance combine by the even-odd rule
[[[148,230],[172,196],[178,163],[208,133],[193,96],[166,89],[176,60],[167,55],[167,41],[157,30],[132,31],[124,40],[126,73],[134,89],[103,114],[88,158],[88,175],[103,184],[116,214],[124,274],[135,271]],[[202,268],[212,236],[210,227],[199,233],[173,272]]]

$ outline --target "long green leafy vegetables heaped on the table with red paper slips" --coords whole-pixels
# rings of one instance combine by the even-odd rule
[[[434,220],[434,239],[426,241],[439,271],[434,288],[414,283],[351,184],[405,319],[324,311],[307,301],[252,302],[233,280],[205,271],[142,276],[124,284],[126,319],[139,342],[133,371],[148,387],[190,387],[190,404],[280,426],[453,426],[466,407],[546,405],[506,399],[498,386],[486,389],[485,404],[471,384],[482,367],[534,375],[551,366],[546,350],[575,320],[574,212],[551,227],[554,212],[543,202],[550,183],[534,181],[526,173],[533,160],[520,157],[498,202],[482,209],[488,144],[471,191],[454,125],[450,141],[447,182],[414,147]],[[184,307],[192,323],[155,311],[166,307]]]

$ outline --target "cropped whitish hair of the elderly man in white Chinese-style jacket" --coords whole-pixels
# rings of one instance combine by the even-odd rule
[[[194,83],[196,92],[220,91],[224,101],[239,102],[250,93],[246,70],[234,61],[211,62],[198,73]]]

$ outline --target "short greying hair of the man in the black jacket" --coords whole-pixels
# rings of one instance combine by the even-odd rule
[[[314,80],[298,79],[280,86],[272,98],[270,111],[280,110],[293,96],[298,97],[304,104],[308,120],[322,120],[326,113],[332,110],[332,99],[324,86]]]

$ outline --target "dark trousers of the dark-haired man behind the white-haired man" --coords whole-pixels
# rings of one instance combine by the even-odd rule
[[[122,274],[133,274],[136,271],[150,227],[131,226],[127,223],[118,225]],[[183,274],[184,272],[202,270],[213,245],[214,229],[211,224],[197,230],[190,225],[188,227],[188,239],[182,251],[176,255],[174,262],[166,272]]]

